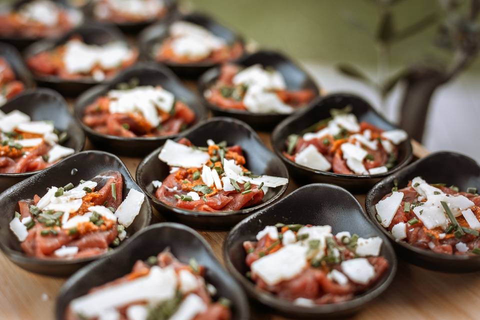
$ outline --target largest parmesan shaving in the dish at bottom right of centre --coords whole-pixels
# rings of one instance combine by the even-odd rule
[[[251,271],[268,285],[275,285],[300,274],[306,267],[306,246],[290,244],[251,264]]]

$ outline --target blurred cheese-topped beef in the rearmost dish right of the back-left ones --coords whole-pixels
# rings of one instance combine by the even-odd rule
[[[221,63],[236,59],[243,52],[241,42],[228,44],[199,24],[175,21],[169,26],[168,33],[153,48],[157,61],[178,64]]]

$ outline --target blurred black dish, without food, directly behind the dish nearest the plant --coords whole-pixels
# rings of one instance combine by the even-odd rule
[[[319,95],[318,86],[313,78],[292,60],[285,55],[268,50],[260,50],[258,52],[243,56],[233,63],[247,67],[253,64],[261,64],[263,67],[272,67],[280,72],[285,79],[286,86],[289,90],[310,89]],[[281,120],[290,114],[280,113],[253,113],[246,110],[225,109],[208,102],[204,96],[204,92],[214,84],[220,75],[220,66],[209,69],[198,79],[198,92],[205,105],[213,112],[214,115],[231,116],[239,120],[245,121],[255,130],[270,131]],[[302,108],[298,108],[301,110]]]

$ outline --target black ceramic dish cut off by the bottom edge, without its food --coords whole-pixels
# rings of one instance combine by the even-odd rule
[[[166,248],[181,262],[188,263],[193,257],[198,264],[206,267],[205,280],[215,286],[218,296],[231,301],[232,320],[249,318],[250,311],[245,294],[220,265],[208,243],[191,228],[169,222],[143,229],[121,249],[73,274],[58,293],[55,318],[64,318],[65,310],[72,299],[86,294],[94,286],[129,273],[136,260],[146,260]]]

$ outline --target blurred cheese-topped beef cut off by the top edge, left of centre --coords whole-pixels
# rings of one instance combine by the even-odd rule
[[[113,23],[145,22],[166,13],[163,0],[98,0],[93,8],[97,20]]]

